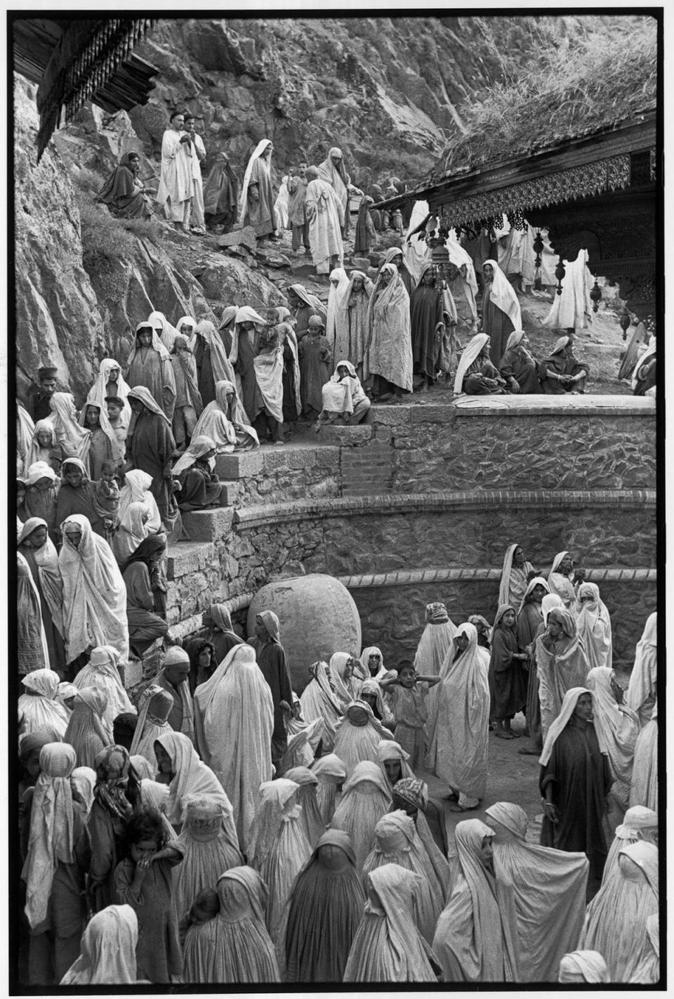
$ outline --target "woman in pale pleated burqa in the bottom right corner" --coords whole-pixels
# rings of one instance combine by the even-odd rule
[[[587,906],[578,946],[603,955],[609,982],[627,983],[648,948],[646,920],[659,911],[657,846],[623,846],[618,872]]]

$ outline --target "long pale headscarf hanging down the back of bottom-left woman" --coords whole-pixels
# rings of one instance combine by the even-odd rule
[[[28,852],[21,872],[26,882],[26,916],[32,929],[47,918],[58,864],[73,862],[70,775],[75,763],[75,750],[64,742],[48,742],[40,750],[40,776],[33,793]]]

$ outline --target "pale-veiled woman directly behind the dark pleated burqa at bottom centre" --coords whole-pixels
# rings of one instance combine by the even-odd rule
[[[348,834],[359,872],[374,845],[374,826],[390,807],[390,792],[377,763],[363,760],[346,780],[331,829]]]

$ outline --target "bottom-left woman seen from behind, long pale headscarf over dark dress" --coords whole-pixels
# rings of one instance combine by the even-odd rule
[[[49,742],[42,747],[40,775],[30,808],[28,851],[21,872],[31,928],[31,985],[48,987],[52,975],[59,982],[80,952],[89,842],[84,808],[73,802],[70,777],[74,768],[71,745]],[[53,960],[53,971],[47,969],[51,964],[45,960],[48,957]]]

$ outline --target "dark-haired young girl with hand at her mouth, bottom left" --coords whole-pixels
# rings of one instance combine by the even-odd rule
[[[170,983],[183,970],[178,921],[172,904],[171,868],[183,859],[182,847],[167,834],[159,813],[139,811],[127,825],[129,856],[115,870],[119,905],[138,916],[138,977]]]

